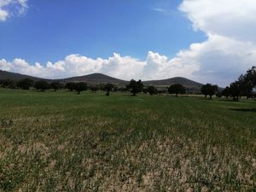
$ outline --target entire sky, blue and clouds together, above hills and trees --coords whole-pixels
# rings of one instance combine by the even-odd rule
[[[225,86],[256,65],[255,13],[255,0],[0,0],[0,69]]]

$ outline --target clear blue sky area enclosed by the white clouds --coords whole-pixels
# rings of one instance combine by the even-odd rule
[[[32,0],[26,15],[0,25],[0,57],[45,63],[69,54],[105,58],[117,52],[145,59],[148,50],[174,56],[206,39],[177,10],[181,1],[165,2]]]

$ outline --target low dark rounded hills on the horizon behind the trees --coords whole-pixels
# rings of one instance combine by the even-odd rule
[[[40,78],[23,75],[19,73],[10,73],[0,70],[0,79],[12,79],[15,81],[18,81],[20,79],[33,79],[34,81],[41,80]],[[88,84],[116,84],[118,86],[125,86],[125,84],[128,84],[128,81],[122,80],[122,79],[115,79],[108,75],[104,75],[102,73],[93,73],[89,75],[79,76],[79,77],[73,77],[73,78],[67,78],[67,79],[44,79],[48,82],[51,82],[53,80],[60,81],[62,83],[67,82],[86,82]],[[201,89],[200,83],[197,83],[195,81],[177,77],[177,78],[171,78],[171,79],[162,79],[162,80],[150,80],[150,81],[143,81],[143,84],[148,85],[154,85],[155,87],[159,89],[166,89],[166,87],[170,86],[171,84],[183,84],[183,86],[189,90],[190,92],[199,92]]]

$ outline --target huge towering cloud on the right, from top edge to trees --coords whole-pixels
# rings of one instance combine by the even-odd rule
[[[183,0],[179,9],[208,37],[177,54],[181,61],[198,65],[192,73],[196,79],[226,85],[255,65],[254,0]]]

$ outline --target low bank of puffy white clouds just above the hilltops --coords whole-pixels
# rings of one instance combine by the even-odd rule
[[[114,53],[108,59],[91,59],[83,55],[67,55],[64,60],[29,64],[22,59],[0,60],[0,69],[49,79],[61,79],[89,73],[105,73],[119,79],[164,79],[181,74],[189,77],[197,66],[184,65],[178,59],[148,52],[145,61]],[[185,69],[185,70],[184,70]]]

